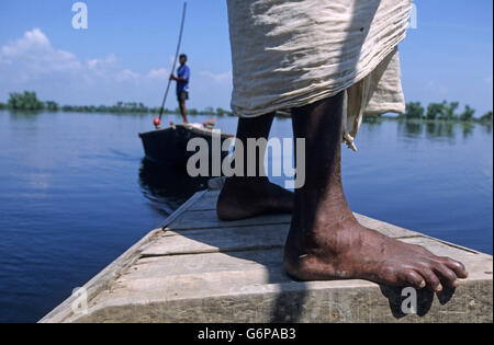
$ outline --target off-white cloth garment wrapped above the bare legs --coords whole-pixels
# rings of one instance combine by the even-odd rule
[[[345,91],[343,140],[364,114],[404,113],[397,44],[412,0],[227,0],[232,110],[255,117]]]

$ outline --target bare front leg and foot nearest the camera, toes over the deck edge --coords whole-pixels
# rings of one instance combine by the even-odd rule
[[[440,291],[467,277],[464,266],[423,246],[362,227],[341,184],[343,93],[292,110],[295,138],[305,138],[305,185],[295,191],[284,267],[301,280],[367,279]]]

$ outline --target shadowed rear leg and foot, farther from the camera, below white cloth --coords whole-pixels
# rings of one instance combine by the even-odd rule
[[[269,136],[274,114],[255,118],[239,118],[237,139],[247,148],[247,138]],[[265,152],[256,152],[256,162]],[[246,176],[247,154],[244,156],[244,176],[226,180],[217,200],[217,216],[222,220],[237,220],[263,214],[291,212],[293,193],[269,182],[266,176]]]

